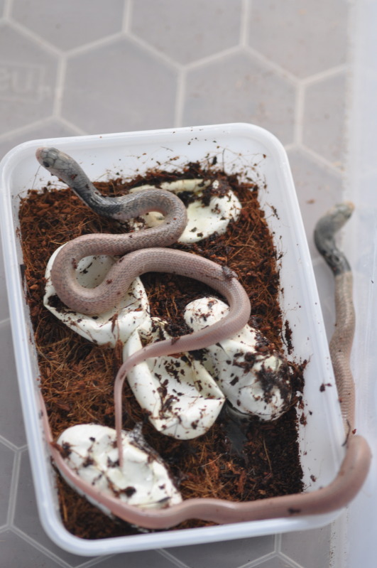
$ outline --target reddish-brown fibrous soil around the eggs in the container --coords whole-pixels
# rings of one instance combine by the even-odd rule
[[[96,186],[103,193],[120,195],[146,181],[159,183],[200,176],[231,184],[243,205],[241,218],[229,225],[225,235],[175,247],[202,254],[237,272],[251,299],[250,323],[268,338],[266,348],[280,349],[285,343],[291,353],[289,324],[286,321],[283,324],[278,302],[277,254],[258,205],[256,185],[239,183],[236,176],[226,177],[214,168],[203,171],[199,165],[189,164],[184,171],[176,173],[153,171],[132,183],[116,179]],[[221,191],[222,183],[219,187]],[[121,348],[94,345],[75,334],[45,309],[43,293],[45,265],[59,245],[85,233],[120,232],[121,228],[99,218],[70,189],[57,191],[48,187],[29,191],[28,197],[21,201],[19,215],[23,274],[40,368],[38,379],[53,435],[58,436],[67,427],[80,423],[96,422],[114,427],[113,382],[121,365]],[[152,315],[168,320],[170,333],[177,336],[185,333],[180,318],[182,308],[206,291],[214,294],[199,282],[171,274],[146,274],[143,283],[151,301]],[[251,418],[248,424],[237,427],[226,412],[222,412],[204,436],[177,441],[153,429],[126,385],[124,428],[132,429],[136,422],[143,422],[146,440],[170,466],[183,498],[244,501],[300,492],[302,469],[296,407],[301,402],[304,367],[305,363],[289,363],[295,396],[290,410],[275,422]],[[57,480],[62,520],[74,535],[93,539],[137,532],[128,523],[109,520],[72,491],[59,475]],[[207,524],[190,520],[177,528]]]

